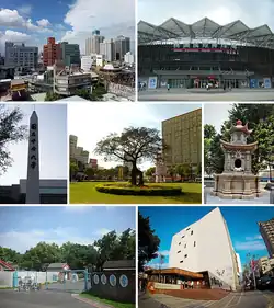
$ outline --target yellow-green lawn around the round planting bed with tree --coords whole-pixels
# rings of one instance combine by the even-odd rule
[[[110,182],[113,184],[113,182]],[[164,183],[164,185],[182,186],[179,196],[121,196],[99,193],[95,185],[102,182],[70,183],[71,204],[201,204],[201,183]],[[105,183],[106,184],[106,183]],[[150,185],[150,184],[149,184]],[[153,185],[153,184],[151,184]],[[160,185],[157,183],[157,185]]]

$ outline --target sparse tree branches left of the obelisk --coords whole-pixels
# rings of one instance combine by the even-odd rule
[[[20,125],[23,116],[19,107],[7,109],[4,105],[0,105],[0,174],[12,166],[13,160],[8,146],[27,137],[27,126]]]

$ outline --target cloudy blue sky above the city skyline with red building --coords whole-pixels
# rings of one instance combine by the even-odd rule
[[[80,44],[93,30],[106,37],[135,37],[135,0],[1,0],[0,53],[5,41],[39,47],[46,38]],[[126,12],[126,13],[125,13]]]

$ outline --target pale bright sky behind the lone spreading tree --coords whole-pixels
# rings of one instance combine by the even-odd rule
[[[123,162],[105,162],[103,157],[94,155],[96,144],[111,133],[121,134],[124,128],[149,127],[161,130],[161,122],[190,111],[199,109],[201,104],[141,104],[129,102],[110,102],[92,104],[79,102],[68,106],[69,135],[78,136],[78,146],[90,152],[89,158],[98,159],[104,168],[112,168]],[[142,170],[151,162],[140,166]]]

